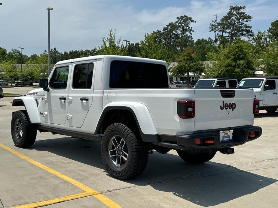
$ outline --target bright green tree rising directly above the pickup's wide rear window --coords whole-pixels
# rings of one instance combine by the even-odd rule
[[[153,58],[159,60],[169,60],[169,53],[163,47],[163,44],[159,44],[155,40],[155,32],[151,34],[145,34],[145,40],[140,43],[140,54],[139,57],[143,58]]]

